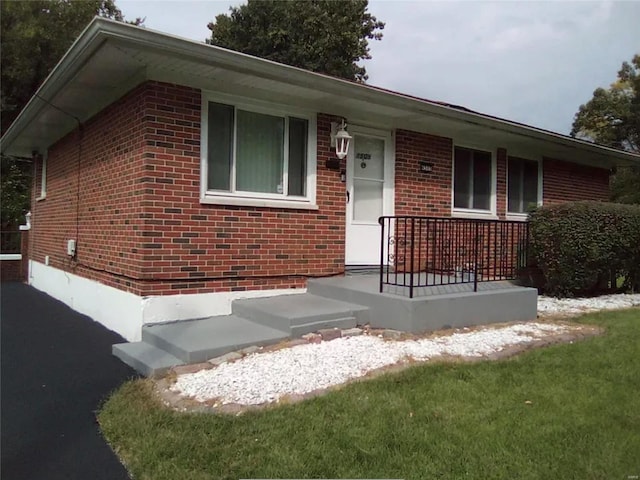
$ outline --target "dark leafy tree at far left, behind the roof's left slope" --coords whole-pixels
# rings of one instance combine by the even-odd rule
[[[0,2],[0,134],[96,15],[124,21],[114,0]],[[24,160],[5,155],[0,161],[1,224],[13,228],[24,221],[29,208],[29,168]]]

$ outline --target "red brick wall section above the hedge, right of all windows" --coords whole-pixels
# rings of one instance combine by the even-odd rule
[[[545,158],[542,165],[543,204],[578,200],[609,200],[609,171]]]

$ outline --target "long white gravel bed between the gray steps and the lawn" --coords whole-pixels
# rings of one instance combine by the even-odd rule
[[[182,374],[171,390],[198,401],[259,405],[338,385],[407,358],[425,361],[439,355],[484,356],[568,330],[564,325],[526,323],[406,341],[368,335],[343,337],[256,353],[210,370]]]

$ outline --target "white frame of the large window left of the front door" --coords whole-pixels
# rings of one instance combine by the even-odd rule
[[[303,118],[308,123],[307,141],[307,195],[305,197],[285,197],[284,195],[254,192],[224,192],[219,190],[207,190],[207,146],[209,136],[208,108],[209,102],[231,105],[236,109],[249,112],[263,113],[267,115],[293,116]],[[227,95],[213,92],[202,92],[202,105],[200,116],[200,203],[214,205],[240,205],[254,207],[295,208],[303,210],[317,210],[316,183],[317,183],[317,113],[278,105],[270,102],[251,100],[235,95]],[[235,116],[234,116],[235,118]],[[234,125],[234,139],[235,139]],[[285,140],[287,141],[287,140]],[[235,140],[234,140],[235,143]],[[234,145],[235,149],[235,145]],[[232,171],[235,170],[235,162]],[[235,182],[235,172],[232,181]]]

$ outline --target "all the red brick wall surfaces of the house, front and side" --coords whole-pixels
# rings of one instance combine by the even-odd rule
[[[333,118],[317,117],[318,210],[221,206],[200,203],[200,109],[198,90],[147,82],[51,146],[45,200],[34,182],[31,258],[138,295],[302,287],[341,273],[345,186],[325,167]],[[396,214],[449,216],[452,140],[398,130],[395,144]],[[506,155],[497,150],[501,216]],[[419,172],[422,160],[432,172]],[[605,170],[544,167],[547,203],[607,198]]]

